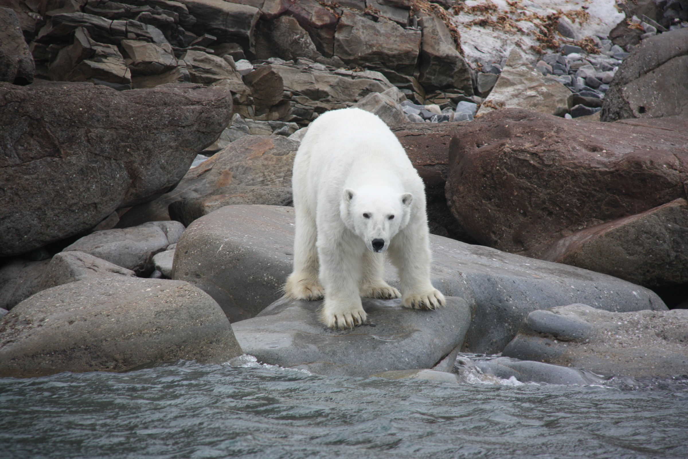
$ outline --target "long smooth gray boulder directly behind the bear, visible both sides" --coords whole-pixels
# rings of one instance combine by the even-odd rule
[[[294,209],[226,206],[199,218],[175,249],[173,279],[208,292],[230,321],[254,317],[281,297],[292,271]],[[651,290],[608,275],[430,236],[431,280],[473,310],[464,350],[500,352],[522,319],[571,301],[612,311],[665,310]],[[398,288],[396,269],[385,280]]]

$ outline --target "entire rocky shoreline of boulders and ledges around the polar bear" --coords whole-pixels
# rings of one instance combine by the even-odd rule
[[[0,376],[246,353],[459,383],[687,377],[688,3],[600,3],[0,7]],[[369,300],[332,331],[281,299],[294,155],[345,107],[424,181],[442,310]]]

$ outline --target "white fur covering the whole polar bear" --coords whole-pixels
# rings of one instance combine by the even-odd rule
[[[296,237],[288,297],[324,293],[322,320],[330,328],[365,321],[361,296],[403,294],[407,308],[444,305],[430,283],[423,182],[380,118],[350,108],[312,122],[294,160],[292,187]],[[382,239],[380,253],[374,239]],[[385,251],[399,270],[401,294],[382,279]]]

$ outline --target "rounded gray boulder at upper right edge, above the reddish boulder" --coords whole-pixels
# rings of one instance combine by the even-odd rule
[[[688,29],[652,36],[627,56],[605,94],[601,121],[688,118]]]

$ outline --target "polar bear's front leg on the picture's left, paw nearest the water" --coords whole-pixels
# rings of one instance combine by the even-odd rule
[[[361,256],[365,246],[355,241],[330,239],[319,243],[320,279],[325,287],[321,321],[329,328],[354,328],[367,314],[358,295]]]

